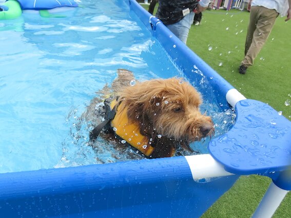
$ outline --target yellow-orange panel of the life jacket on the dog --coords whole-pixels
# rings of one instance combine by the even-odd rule
[[[111,102],[110,104],[111,110],[114,108],[116,104],[117,102],[115,100]],[[120,105],[122,104],[124,103],[121,102]],[[122,137],[123,140],[125,140],[131,146],[137,148],[146,156],[150,156],[154,148],[148,142],[147,137],[140,133],[139,126],[128,122],[126,110],[123,111],[119,110],[120,105],[116,110],[116,114],[113,120],[111,121],[111,127],[113,127],[113,130],[117,135]]]

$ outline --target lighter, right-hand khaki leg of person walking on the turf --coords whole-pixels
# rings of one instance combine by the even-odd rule
[[[254,64],[254,60],[261,51],[265,44],[274,24],[278,17],[276,10],[270,10],[264,7],[260,7],[259,19],[257,21],[256,29],[253,33],[253,39],[246,52],[244,60],[241,62],[244,66],[251,66]]]

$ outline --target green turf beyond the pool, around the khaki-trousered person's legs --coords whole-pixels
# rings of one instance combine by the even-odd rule
[[[240,10],[205,11],[201,25],[191,27],[187,45],[246,98],[267,103],[291,120],[291,22],[277,18],[254,65],[241,75],[248,18],[249,12]]]

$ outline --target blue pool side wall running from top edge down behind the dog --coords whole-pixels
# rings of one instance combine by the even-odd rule
[[[207,83],[205,88],[199,88],[202,95],[207,96],[209,94],[208,92],[211,92],[210,96],[217,98],[217,102],[223,105],[222,109],[229,109],[225,96],[226,93],[230,89],[234,89],[234,87],[206,64],[195,52],[185,46],[184,43],[173,35],[157,17],[151,16],[151,14],[144,10],[135,0],[126,1],[129,2],[130,9],[137,14],[153,37],[159,40],[165,51],[177,67],[184,73],[184,76],[189,82],[200,84],[200,81],[204,79]]]

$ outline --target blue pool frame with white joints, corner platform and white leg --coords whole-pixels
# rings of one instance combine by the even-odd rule
[[[190,82],[205,78],[223,107],[235,108],[234,127],[210,141],[209,154],[2,173],[1,217],[200,217],[249,174],[273,180],[253,215],[271,217],[291,190],[291,122],[246,99],[135,0],[119,2],[137,14]],[[193,73],[194,66],[203,74]],[[270,138],[266,128],[279,137]],[[265,146],[254,149],[254,135]],[[263,157],[273,145],[277,150]]]

